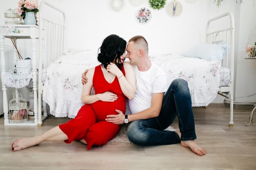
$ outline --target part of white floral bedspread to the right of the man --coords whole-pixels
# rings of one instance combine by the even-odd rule
[[[167,73],[167,84],[174,79],[185,79],[189,84],[192,106],[207,106],[218,93],[220,62],[206,61],[180,55],[154,55],[150,60]]]

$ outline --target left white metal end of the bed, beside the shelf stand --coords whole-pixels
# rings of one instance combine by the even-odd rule
[[[42,13],[48,6],[62,13],[63,23],[47,20]],[[39,7],[39,69],[38,69],[38,126],[42,126],[42,70],[63,53],[65,13],[47,1],[42,1]],[[46,48],[45,48],[46,47]],[[45,50],[46,49],[46,50]],[[43,102],[43,116],[47,117],[47,104]]]

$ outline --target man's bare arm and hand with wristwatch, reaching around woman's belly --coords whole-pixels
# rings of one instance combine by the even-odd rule
[[[162,102],[164,98],[164,93],[153,93],[151,100],[151,107],[143,110],[139,113],[134,113],[128,115],[129,121],[135,121],[138,119],[150,119],[157,117],[162,108]],[[118,115],[108,115],[106,121],[114,124],[124,124],[124,114],[120,110],[116,110]]]

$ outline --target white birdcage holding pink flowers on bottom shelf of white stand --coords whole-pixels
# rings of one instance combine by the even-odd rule
[[[11,124],[27,122],[27,101],[16,90],[13,99],[9,102],[9,119]]]

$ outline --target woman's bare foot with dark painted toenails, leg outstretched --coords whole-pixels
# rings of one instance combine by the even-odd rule
[[[38,140],[36,139],[36,137],[17,139],[16,141],[13,142],[11,150],[17,151],[38,145],[39,143],[37,141]]]

